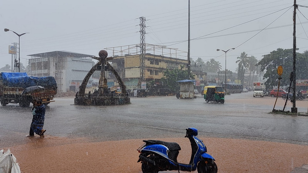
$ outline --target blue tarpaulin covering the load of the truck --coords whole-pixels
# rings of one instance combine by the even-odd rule
[[[3,85],[10,87],[27,88],[30,86],[43,86],[45,88],[57,86],[55,78],[52,76],[34,77],[28,76],[27,73],[6,73],[2,72],[0,80]]]

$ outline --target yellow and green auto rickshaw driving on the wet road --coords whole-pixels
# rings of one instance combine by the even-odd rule
[[[221,86],[205,86],[203,96],[206,103],[225,103],[225,90]]]

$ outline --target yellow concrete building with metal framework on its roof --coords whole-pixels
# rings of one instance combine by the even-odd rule
[[[166,46],[146,44],[146,53],[144,55],[144,69],[141,69],[140,45],[129,45],[106,48],[113,53],[114,58],[112,66],[119,73],[128,89],[140,88],[140,77],[144,71],[144,81],[154,80],[160,82],[164,76],[163,72],[167,69],[186,70],[188,60],[187,52],[177,50],[176,48],[167,48]],[[167,50],[167,51],[166,51]],[[192,73],[195,75],[196,85],[205,84],[206,73],[201,68],[192,67]]]

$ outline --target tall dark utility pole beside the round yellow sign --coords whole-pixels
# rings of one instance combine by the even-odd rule
[[[293,107],[291,108],[291,112],[293,113],[297,113],[297,107],[296,107],[296,99],[295,99],[295,95],[296,95],[296,0],[294,0],[294,11],[293,11]]]

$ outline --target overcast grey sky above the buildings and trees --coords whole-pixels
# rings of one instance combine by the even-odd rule
[[[297,0],[297,4],[308,5],[308,0]],[[227,69],[235,71],[235,61],[243,51],[260,60],[277,48],[292,48],[293,8],[287,8],[292,5],[293,0],[191,0],[191,39],[210,34],[191,41],[191,57],[205,61],[215,58],[224,69],[224,53],[216,49],[236,47],[227,53]],[[307,29],[308,8],[299,10],[303,15],[297,11],[297,47],[303,52],[308,49],[303,30]],[[4,28],[18,34],[30,32],[20,37],[21,62],[25,64],[29,54],[67,50],[98,56],[99,50],[106,47],[138,44],[141,16],[147,19],[146,43],[167,46],[188,39],[188,0],[0,1],[0,67],[11,64],[8,45],[18,42],[18,36],[4,32]],[[248,23],[236,26],[244,22]],[[217,32],[232,26],[236,27]],[[257,34],[266,26],[272,29]],[[187,51],[187,45],[182,42],[170,47]]]

